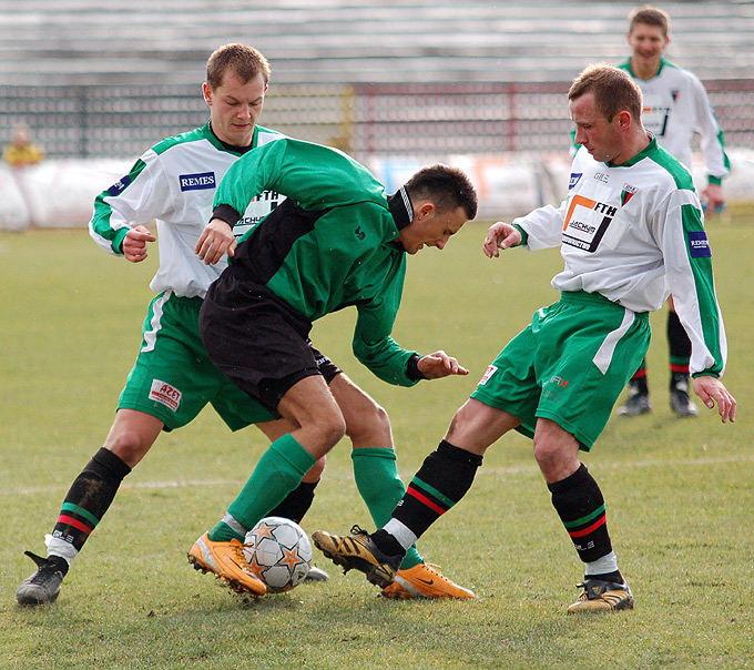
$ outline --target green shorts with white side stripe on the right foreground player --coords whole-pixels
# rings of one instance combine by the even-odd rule
[[[650,345],[649,314],[594,293],[563,293],[539,309],[487,368],[472,398],[521,419],[556,422],[589,451]]]

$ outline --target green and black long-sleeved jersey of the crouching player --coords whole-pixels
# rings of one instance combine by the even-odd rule
[[[385,382],[415,384],[407,375],[415,352],[390,337],[406,275],[406,252],[396,240],[412,217],[405,190],[388,197],[346,154],[282,139],[228,169],[215,194],[215,215],[234,224],[267,190],[286,195],[286,210],[298,207],[300,216],[283,225],[273,212],[242,238],[231,271],[266,286],[309,322],[355,305],[356,357]]]

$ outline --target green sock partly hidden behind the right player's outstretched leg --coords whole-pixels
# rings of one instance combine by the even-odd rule
[[[358,493],[375,525],[381,528],[390,520],[395,506],[406,493],[406,487],[398,477],[396,453],[393,449],[367,447],[354,449],[350,457],[354,460],[354,478]],[[422,562],[424,559],[414,545],[406,552],[400,568],[407,570]]]

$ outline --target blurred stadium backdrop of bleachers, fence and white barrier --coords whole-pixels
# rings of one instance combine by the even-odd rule
[[[23,224],[0,212],[0,227],[88,217],[101,175],[124,169],[118,161],[204,122],[206,58],[232,41],[273,65],[263,124],[345,149],[388,186],[429,161],[465,165],[486,189],[485,212],[528,211],[562,185],[568,82],[590,62],[628,55],[635,4],[0,0],[0,144],[23,122],[48,155],[14,180],[0,174],[0,192],[20,211],[35,193],[85,184],[64,210],[27,204]],[[740,176],[726,191],[741,183],[754,200],[754,3],[658,4],[672,17],[669,59],[705,82],[728,148],[750,152],[735,156]]]

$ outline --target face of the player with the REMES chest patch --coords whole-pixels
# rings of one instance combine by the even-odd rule
[[[264,77],[257,74],[243,83],[228,70],[216,89],[212,90],[205,82],[203,90],[215,134],[234,146],[248,146],[267,92]]]

